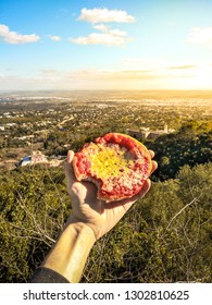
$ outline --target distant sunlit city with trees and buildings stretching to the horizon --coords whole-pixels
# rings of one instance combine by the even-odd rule
[[[0,168],[60,166],[68,148],[105,132],[153,141],[188,120],[211,119],[210,91],[1,93]]]

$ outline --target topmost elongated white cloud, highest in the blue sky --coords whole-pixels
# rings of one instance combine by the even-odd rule
[[[78,17],[80,21],[87,21],[90,23],[101,22],[119,22],[119,23],[132,23],[135,22],[135,17],[127,14],[122,10],[108,10],[108,9],[83,9]]]

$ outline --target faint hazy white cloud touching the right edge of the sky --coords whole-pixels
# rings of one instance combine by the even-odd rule
[[[212,44],[212,27],[194,27],[187,39],[190,44],[209,45]]]

